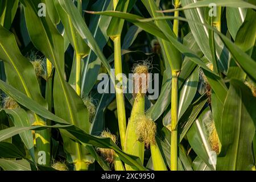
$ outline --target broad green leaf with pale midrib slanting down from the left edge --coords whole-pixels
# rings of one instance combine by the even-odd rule
[[[15,36],[2,26],[0,26],[0,58],[4,61],[9,84],[47,108],[47,103],[39,90],[34,67],[20,53]]]

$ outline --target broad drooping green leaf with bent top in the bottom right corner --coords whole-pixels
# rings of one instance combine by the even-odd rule
[[[239,80],[231,80],[221,118],[221,154],[217,170],[251,170],[256,100]]]

